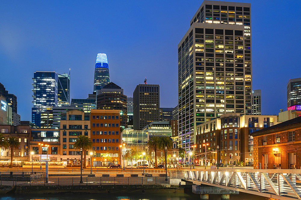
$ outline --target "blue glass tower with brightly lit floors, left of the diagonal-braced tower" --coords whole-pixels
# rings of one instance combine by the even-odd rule
[[[31,120],[41,127],[41,112],[57,106],[57,82],[55,72],[35,72],[33,74],[33,107]]]

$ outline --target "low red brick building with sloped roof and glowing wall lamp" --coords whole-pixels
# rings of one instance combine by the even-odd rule
[[[301,117],[251,134],[254,169],[300,169]]]

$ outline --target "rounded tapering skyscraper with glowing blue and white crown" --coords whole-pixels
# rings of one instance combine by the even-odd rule
[[[94,73],[94,92],[110,83],[107,54],[99,53],[96,57]]]

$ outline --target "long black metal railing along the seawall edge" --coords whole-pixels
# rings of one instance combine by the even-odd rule
[[[165,177],[2,178],[1,185],[155,185],[169,184]]]

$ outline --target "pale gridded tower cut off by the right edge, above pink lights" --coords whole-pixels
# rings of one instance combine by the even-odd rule
[[[287,107],[301,105],[301,78],[290,79],[287,83]]]

